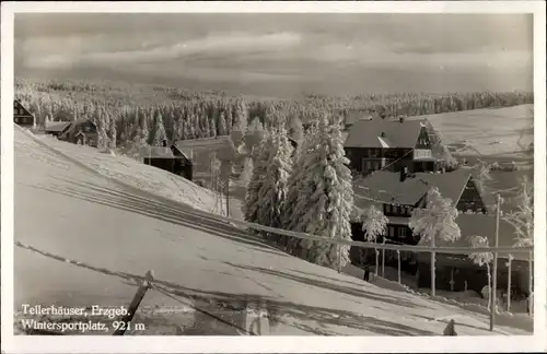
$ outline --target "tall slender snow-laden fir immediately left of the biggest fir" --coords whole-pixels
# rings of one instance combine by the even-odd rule
[[[271,227],[282,227],[282,211],[287,198],[288,179],[291,174],[292,145],[284,127],[275,129],[268,134],[268,160],[264,161],[266,169],[258,190],[257,223]]]

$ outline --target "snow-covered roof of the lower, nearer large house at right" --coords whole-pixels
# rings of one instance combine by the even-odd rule
[[[404,181],[400,181],[398,173],[376,172],[353,181],[356,206],[361,208],[360,199],[363,200],[362,206],[365,206],[365,203],[370,204],[370,202],[365,202],[366,199],[415,205],[432,186],[438,187],[444,198],[452,199],[455,205],[470,177],[470,172],[456,169],[444,174],[411,174]]]

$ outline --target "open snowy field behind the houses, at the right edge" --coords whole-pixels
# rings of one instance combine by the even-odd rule
[[[534,105],[408,117],[427,118],[444,144],[466,156],[513,156],[534,141]]]

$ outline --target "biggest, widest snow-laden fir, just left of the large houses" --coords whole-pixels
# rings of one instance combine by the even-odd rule
[[[310,134],[306,152],[301,154],[300,196],[293,208],[294,222],[290,229],[328,238],[351,240],[350,215],[353,211],[353,189],[349,160],[345,156],[340,119],[333,123],[327,116],[319,118],[314,134]],[[291,186],[294,188],[294,185]],[[292,191],[292,194],[294,191]],[[349,262],[349,246],[301,240],[303,257],[309,261],[339,269]]]

